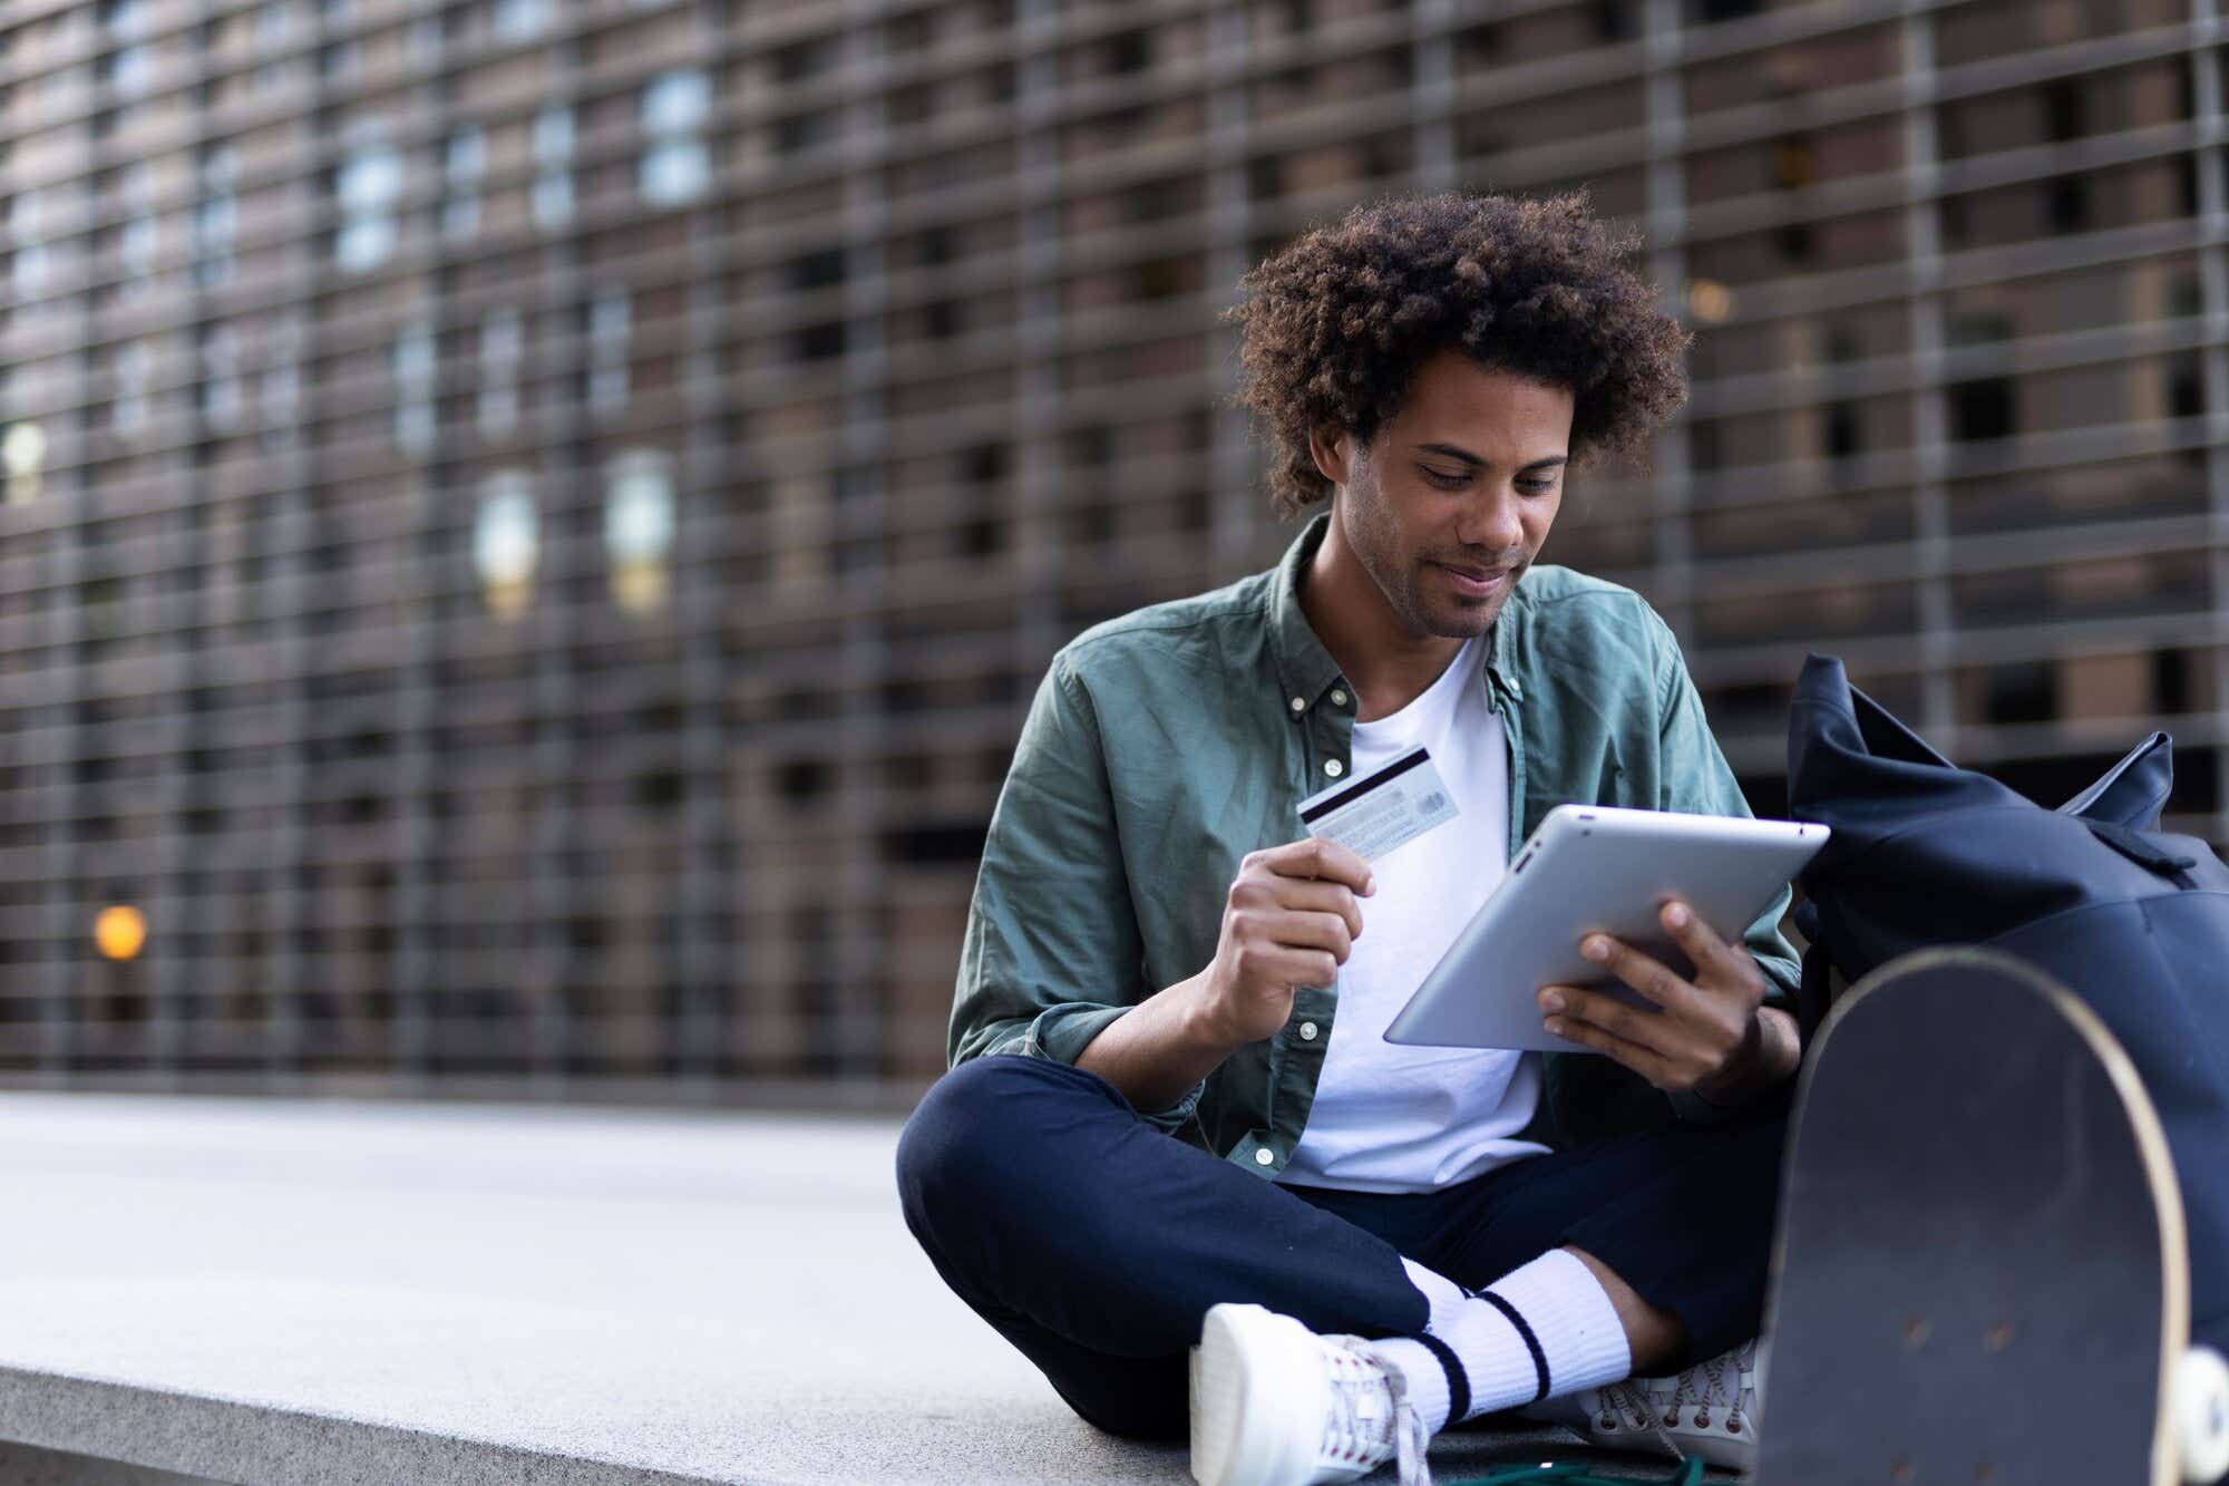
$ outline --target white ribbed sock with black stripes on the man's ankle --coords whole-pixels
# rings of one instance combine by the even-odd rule
[[[1625,1328],[1594,1270],[1565,1249],[1511,1270],[1476,1296],[1402,1261],[1431,1303],[1422,1337],[1371,1348],[1402,1370],[1424,1428],[1542,1397],[1616,1383],[1634,1368]]]

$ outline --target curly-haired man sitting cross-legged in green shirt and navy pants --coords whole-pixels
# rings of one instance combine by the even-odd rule
[[[1741,946],[1667,904],[1690,977],[1585,946],[1661,1009],[1542,991],[1592,1051],[1382,1038],[1549,808],[1748,814],[1663,620],[1534,565],[1565,469],[1685,397],[1629,248],[1583,194],[1449,194],[1257,266],[1239,397],[1284,513],[1331,511],[1063,647],[999,797],[907,1223],[1081,1417],[1188,1424],[1206,1486],[1420,1479],[1429,1432],[1549,1399],[1730,1461],[1754,1432],[1785,895]],[[1456,821],[1373,863],[1302,837],[1418,743]]]

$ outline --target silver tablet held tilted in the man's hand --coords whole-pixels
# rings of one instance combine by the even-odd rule
[[[1540,1029],[1540,986],[1603,986],[1654,1006],[1580,957],[1585,935],[1625,939],[1685,975],[1694,966],[1656,921],[1667,897],[1739,944],[1826,837],[1826,826],[1805,821],[1556,805],[1393,1017],[1386,1042],[1594,1051]]]

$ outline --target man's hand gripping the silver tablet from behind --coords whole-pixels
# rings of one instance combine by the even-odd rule
[[[1665,1093],[1701,1093],[1741,1102],[1797,1067],[1794,1022],[1768,1011],[1765,973],[1741,946],[1730,946],[1694,910],[1672,899],[1658,921],[1694,962],[1694,980],[1612,939],[1587,935],[1580,953],[1623,980],[1656,1011],[1629,1006],[1603,991],[1540,986],[1542,1026],[1609,1053]]]

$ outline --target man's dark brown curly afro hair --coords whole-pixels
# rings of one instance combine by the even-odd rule
[[[1364,446],[1400,413],[1418,366],[1453,346],[1476,364],[1571,393],[1571,464],[1647,462],[1649,431],[1687,399],[1694,339],[1620,259],[1587,192],[1527,201],[1447,192],[1353,208],[1255,266],[1244,303],[1239,390],[1277,446],[1282,518],[1331,495],[1311,428]]]

